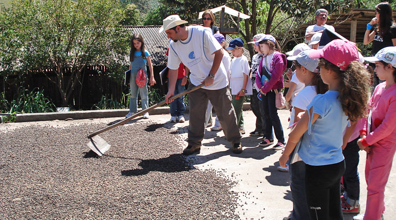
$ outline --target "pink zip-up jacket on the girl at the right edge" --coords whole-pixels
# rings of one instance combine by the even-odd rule
[[[368,103],[371,113],[371,132],[367,134],[367,119],[360,134],[363,146],[370,146],[382,139],[396,142],[396,84],[385,89],[386,82],[379,84]]]

